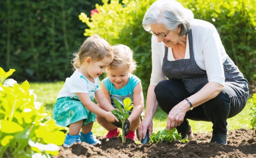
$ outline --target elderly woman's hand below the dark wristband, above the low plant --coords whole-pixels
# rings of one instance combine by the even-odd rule
[[[183,122],[185,114],[186,106],[182,106],[179,104],[174,106],[168,114],[167,130],[169,131],[170,128],[176,128],[177,126],[179,126]]]

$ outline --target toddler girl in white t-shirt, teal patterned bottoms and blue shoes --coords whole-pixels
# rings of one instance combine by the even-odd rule
[[[66,78],[53,108],[56,124],[69,127],[64,147],[69,147],[74,142],[92,145],[101,143],[93,137],[91,131],[96,115],[106,119],[106,122],[118,121],[111,112],[101,109],[93,102],[95,94],[95,99],[101,107],[109,111],[114,109],[102,94],[98,78],[112,60],[111,46],[98,35],[88,37],[79,52],[75,53],[73,66],[76,70]]]

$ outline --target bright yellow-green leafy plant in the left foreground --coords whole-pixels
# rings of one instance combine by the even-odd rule
[[[0,158],[31,157],[32,154],[58,155],[64,143],[63,129],[55,125],[51,113],[45,113],[42,103],[29,90],[29,83],[21,85],[0,67]],[[26,151],[26,152],[24,152]]]

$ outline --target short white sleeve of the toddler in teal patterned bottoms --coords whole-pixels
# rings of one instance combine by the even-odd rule
[[[88,81],[83,78],[70,80],[70,82],[68,83],[70,93],[89,93],[88,86]]]

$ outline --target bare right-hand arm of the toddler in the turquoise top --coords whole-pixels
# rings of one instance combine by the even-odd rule
[[[139,82],[133,89],[133,105],[133,110],[128,118],[130,122],[140,117],[140,114],[143,111],[144,99],[141,82]]]

